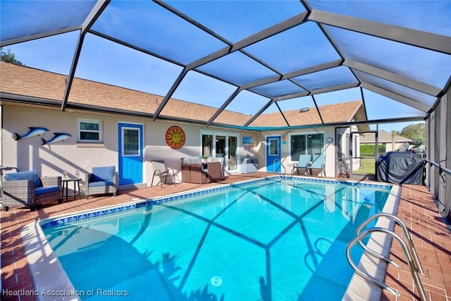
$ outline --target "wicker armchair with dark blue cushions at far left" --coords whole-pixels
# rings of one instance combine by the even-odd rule
[[[63,200],[61,176],[39,177],[36,171],[18,171],[6,173],[2,185],[1,206],[5,211],[9,207],[30,207],[47,202]]]

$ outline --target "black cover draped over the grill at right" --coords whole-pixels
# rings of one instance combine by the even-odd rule
[[[379,182],[423,185],[424,161],[412,152],[388,152],[376,161]]]

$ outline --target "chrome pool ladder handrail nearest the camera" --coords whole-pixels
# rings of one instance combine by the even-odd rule
[[[416,271],[416,266],[412,260],[412,256],[408,250],[408,247],[406,245],[406,242],[404,242],[404,240],[402,240],[402,238],[400,237],[400,235],[397,235],[396,233],[385,229],[385,228],[369,228],[366,229],[365,231],[363,231],[362,233],[360,233],[359,235],[357,235],[356,238],[354,238],[353,240],[351,240],[351,242],[347,245],[346,248],[346,257],[347,257],[347,262],[349,262],[350,266],[352,266],[352,269],[354,269],[354,271],[361,276],[362,278],[369,280],[373,283],[376,283],[376,285],[378,285],[379,287],[388,290],[390,293],[392,293],[393,295],[396,296],[400,296],[400,293],[397,292],[397,290],[395,290],[394,288],[391,288],[390,286],[386,285],[385,283],[378,281],[378,279],[374,278],[373,276],[365,273],[364,271],[361,271],[359,269],[358,266],[356,266],[356,264],[354,264],[354,262],[352,261],[352,257],[351,257],[351,249],[352,247],[357,244],[357,242],[359,242],[360,240],[362,240],[363,238],[365,238],[367,235],[373,233],[373,232],[383,232],[386,233],[388,235],[393,236],[393,238],[396,238],[399,242],[400,245],[402,247],[402,251],[404,252],[405,257],[407,258],[407,262],[409,262],[409,268],[410,268],[410,272],[412,274],[412,277],[414,278],[416,287],[419,290],[419,294],[421,297],[421,300],[427,301],[426,298],[426,293],[424,292],[424,288],[423,285],[421,284],[421,279],[419,278],[419,274],[418,271]]]

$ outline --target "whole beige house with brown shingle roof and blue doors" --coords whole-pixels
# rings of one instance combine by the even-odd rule
[[[217,109],[178,99],[171,99],[154,121],[163,97],[78,78],[61,111],[66,75],[0,62],[0,76],[1,165],[35,169],[42,176],[67,171],[82,179],[94,166],[113,165],[120,190],[152,185],[156,159],[182,180],[181,158],[201,155],[224,156],[230,174],[243,172],[243,162],[258,171],[291,173],[299,154],[324,154],[326,176],[335,176],[338,156],[359,144],[359,135],[351,133],[357,126],[336,124],[364,121],[363,104],[355,101],[323,106],[321,115],[333,122],[330,126],[321,125],[315,110],[284,111],[298,128],[287,127],[279,113],[261,114],[251,123],[256,130],[221,126],[249,120],[233,111],[222,111],[217,123],[206,126],[202,122]],[[319,126],[302,128],[315,123]],[[45,130],[27,137],[30,128]],[[354,146],[347,142],[350,136]]]

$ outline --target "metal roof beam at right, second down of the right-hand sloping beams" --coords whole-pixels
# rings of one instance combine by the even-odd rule
[[[405,76],[392,73],[387,70],[383,70],[380,68],[376,68],[370,65],[366,65],[364,63],[360,63],[358,61],[345,60],[343,65],[348,66],[349,68],[362,71],[364,73],[368,73],[369,75],[374,75],[378,78],[382,78],[384,80],[388,80],[390,82],[395,82],[396,84],[402,85],[404,87],[408,87],[410,89],[423,92],[429,94],[431,96],[437,97],[440,94],[441,90],[437,87],[433,87],[431,85],[425,84],[424,82],[419,82],[417,80],[412,80],[410,78],[406,78]]]

